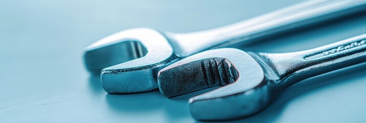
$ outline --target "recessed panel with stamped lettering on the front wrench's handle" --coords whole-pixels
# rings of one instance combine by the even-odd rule
[[[341,46],[335,47],[333,49],[328,49],[328,50],[320,52],[320,53],[308,55],[308,56],[305,56],[304,59],[317,59],[317,58],[328,56],[328,55],[331,55],[331,54],[334,54],[334,53],[338,53],[338,52],[342,52],[342,51],[347,51],[349,49],[357,48],[357,47],[360,47],[360,46],[366,46],[366,39],[356,41],[356,42],[352,42],[352,43],[345,44],[345,45],[341,45]]]

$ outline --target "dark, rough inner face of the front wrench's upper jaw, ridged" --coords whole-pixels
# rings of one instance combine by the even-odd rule
[[[181,61],[178,61],[180,64]],[[174,97],[215,86],[226,86],[237,79],[237,71],[225,58],[212,57],[160,70],[158,84],[161,94]]]

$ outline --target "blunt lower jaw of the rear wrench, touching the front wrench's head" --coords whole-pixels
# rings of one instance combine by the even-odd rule
[[[156,90],[158,88],[156,83],[157,72],[177,59],[178,57],[172,52],[167,58],[166,56],[158,58],[147,54],[145,57],[127,63],[105,68],[100,73],[103,88],[106,92],[112,94]]]

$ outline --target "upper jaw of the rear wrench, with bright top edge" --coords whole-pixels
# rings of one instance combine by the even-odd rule
[[[139,41],[144,33],[156,35],[157,32],[146,28],[129,29],[91,44],[84,49],[86,69],[93,75],[99,75],[104,68],[145,56],[147,46]]]

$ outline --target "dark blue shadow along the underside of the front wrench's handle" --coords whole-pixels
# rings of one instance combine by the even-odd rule
[[[283,112],[284,106],[296,97],[334,84],[348,83],[350,79],[366,74],[366,63],[305,79],[284,90],[266,109],[251,116],[219,122],[274,122]],[[366,81],[365,81],[366,82]],[[205,121],[196,121],[205,122]]]

